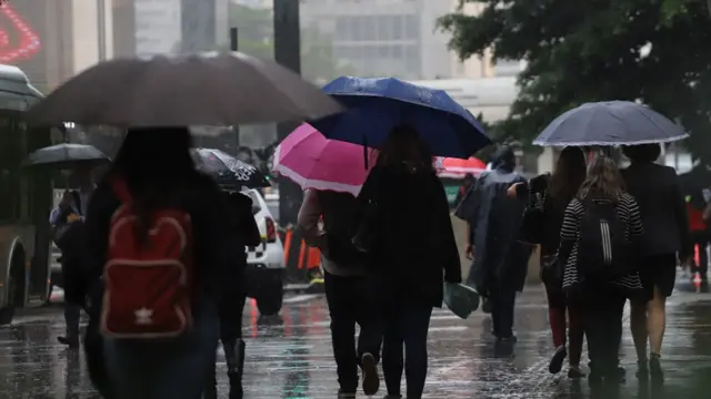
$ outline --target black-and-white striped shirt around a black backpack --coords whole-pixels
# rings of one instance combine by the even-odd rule
[[[642,226],[642,217],[640,215],[640,209],[634,197],[629,194],[622,194],[622,196],[620,196],[620,201],[617,203],[615,208],[620,221],[625,226],[624,236],[627,242],[634,243],[635,241],[640,239],[644,234],[644,227]],[[562,262],[565,262],[565,269],[563,273],[563,289],[570,289],[579,283],[578,242],[580,239],[580,224],[584,214],[584,205],[578,198],[573,198],[570,204],[568,204],[565,214],[563,216],[563,225],[560,231],[561,242],[559,249],[559,258]],[[639,273],[637,272],[628,276],[614,279],[611,282],[611,284],[628,290],[642,289],[642,283],[640,280]]]

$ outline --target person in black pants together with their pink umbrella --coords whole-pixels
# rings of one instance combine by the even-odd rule
[[[372,396],[380,388],[380,287],[368,258],[351,241],[360,216],[356,196],[370,172],[364,165],[369,152],[327,140],[308,124],[294,130],[274,152],[273,172],[306,190],[298,224],[307,244],[321,250],[339,398],[356,397],[359,367],[363,392]],[[360,326],[358,347],[356,325]]]

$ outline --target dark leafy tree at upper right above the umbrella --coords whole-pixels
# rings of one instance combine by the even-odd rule
[[[483,6],[439,23],[461,59],[491,49],[525,60],[520,93],[495,134],[524,142],[588,101],[639,100],[678,119],[711,161],[711,19],[702,0],[462,0]]]

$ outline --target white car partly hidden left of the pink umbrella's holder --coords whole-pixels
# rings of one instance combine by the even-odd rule
[[[257,299],[260,314],[272,316],[281,310],[283,298],[284,247],[264,197],[257,190],[244,190],[242,194],[252,200],[252,214],[262,236],[261,245],[247,247],[247,295]]]

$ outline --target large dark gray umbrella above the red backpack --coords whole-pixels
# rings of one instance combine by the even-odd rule
[[[29,111],[34,125],[237,125],[319,119],[338,102],[298,74],[242,53],[99,63]]]

